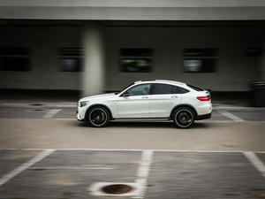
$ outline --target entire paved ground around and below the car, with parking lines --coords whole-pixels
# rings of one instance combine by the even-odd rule
[[[265,111],[95,128],[75,108],[0,107],[0,198],[237,198],[265,195]],[[130,191],[106,193],[108,185]],[[125,191],[125,189],[123,190]]]

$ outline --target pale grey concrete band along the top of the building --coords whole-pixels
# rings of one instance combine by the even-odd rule
[[[262,0],[2,0],[0,19],[265,19]]]

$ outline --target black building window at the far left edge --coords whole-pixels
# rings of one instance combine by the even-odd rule
[[[0,70],[1,71],[30,71],[31,50],[27,47],[1,47]]]

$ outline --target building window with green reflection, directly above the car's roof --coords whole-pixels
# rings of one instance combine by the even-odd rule
[[[152,71],[152,49],[121,49],[120,71],[123,73],[150,73]]]

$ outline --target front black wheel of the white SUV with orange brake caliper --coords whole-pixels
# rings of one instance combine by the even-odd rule
[[[88,111],[87,117],[88,122],[95,127],[106,126],[110,121],[110,114],[103,107],[93,107]]]

